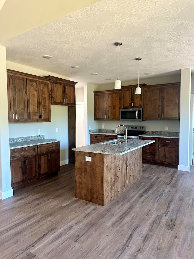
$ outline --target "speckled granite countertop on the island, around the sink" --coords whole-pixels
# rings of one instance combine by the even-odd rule
[[[128,143],[118,144],[118,145],[105,145],[105,143],[111,143],[114,141],[123,141],[123,138],[117,138],[110,141],[100,142],[88,146],[83,146],[79,148],[73,148],[74,151],[82,151],[82,152],[91,152],[91,153],[100,153],[100,154],[108,154],[108,155],[123,155],[130,151],[133,151],[137,148],[141,148],[143,146],[149,145],[154,140],[142,140],[142,139],[128,139]]]

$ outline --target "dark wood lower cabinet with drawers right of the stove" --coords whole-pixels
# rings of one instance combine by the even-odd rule
[[[178,167],[179,164],[179,139],[178,138],[152,138],[154,143],[142,148],[143,163]]]

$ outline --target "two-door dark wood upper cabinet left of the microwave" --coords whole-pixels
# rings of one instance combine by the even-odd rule
[[[94,92],[94,120],[120,121],[121,90]]]

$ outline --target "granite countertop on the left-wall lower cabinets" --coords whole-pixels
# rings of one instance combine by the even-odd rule
[[[58,142],[58,141],[60,141],[60,140],[59,139],[49,139],[49,138],[41,138],[41,139],[28,140],[28,141],[19,141],[19,142],[9,143],[9,149],[23,148],[23,147],[47,144],[47,143]]]

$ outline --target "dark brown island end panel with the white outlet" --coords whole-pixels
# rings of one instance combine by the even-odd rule
[[[92,157],[92,162],[85,157]],[[75,197],[104,206],[103,154],[75,151]]]

